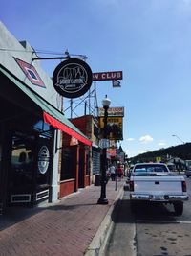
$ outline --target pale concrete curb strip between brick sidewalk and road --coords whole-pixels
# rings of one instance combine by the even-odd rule
[[[99,225],[98,230],[96,231],[96,235],[93,238],[91,244],[86,249],[84,255],[85,256],[101,256],[105,255],[105,249],[107,246],[107,242],[109,241],[110,235],[113,231],[114,221],[112,221],[112,214],[116,210],[117,205],[119,203],[119,198],[123,197],[123,186],[120,187],[119,193],[117,194],[117,198],[115,202],[109,208],[105,218]]]

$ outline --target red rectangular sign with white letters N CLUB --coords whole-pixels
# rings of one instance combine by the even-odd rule
[[[122,80],[122,71],[93,73],[93,81]]]

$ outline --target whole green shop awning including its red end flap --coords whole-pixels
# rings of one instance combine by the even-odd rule
[[[0,72],[3,73],[11,82],[13,82],[18,88],[20,88],[36,105],[43,110],[44,122],[52,125],[54,128],[58,128],[67,134],[73,136],[80,142],[91,146],[92,142],[78,129],[76,128],[59,110],[53,105],[50,105],[24,82],[17,80],[10,72],[0,65]]]

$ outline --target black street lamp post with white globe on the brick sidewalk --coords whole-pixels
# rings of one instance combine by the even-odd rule
[[[102,105],[104,108],[104,128],[103,128],[103,140],[107,140],[107,117],[108,117],[108,108],[111,104],[110,99],[107,98],[107,95],[102,100]],[[104,145],[105,144],[105,145]],[[106,198],[106,166],[107,166],[107,143],[103,143],[102,149],[102,160],[101,160],[101,195],[98,199],[98,204],[108,204],[108,199]]]

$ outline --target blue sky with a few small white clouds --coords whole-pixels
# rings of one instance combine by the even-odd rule
[[[1,21],[35,50],[68,49],[87,56],[93,72],[123,71],[120,88],[97,82],[97,99],[101,106],[107,94],[111,106],[125,107],[121,146],[129,156],[191,141],[191,0],[0,4]],[[51,77],[57,64],[42,63]]]

